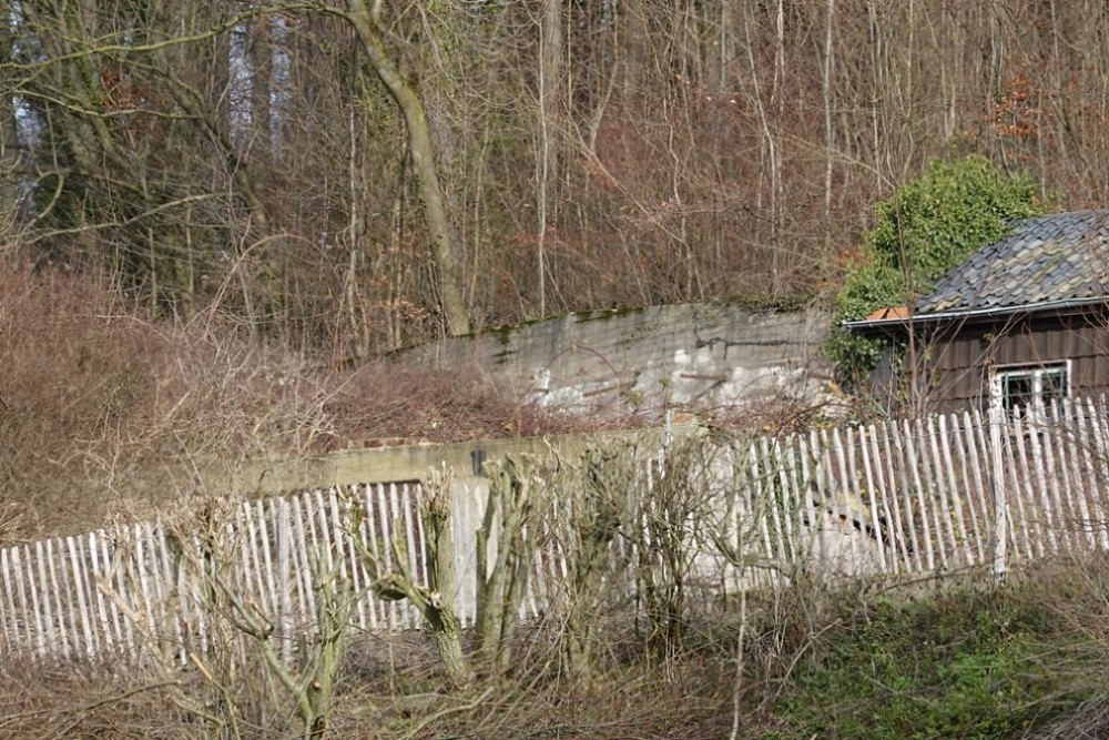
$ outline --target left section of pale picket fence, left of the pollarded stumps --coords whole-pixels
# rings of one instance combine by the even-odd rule
[[[295,496],[246,501],[218,525],[220,579],[272,619],[276,636],[291,637],[311,629],[316,614],[312,558],[325,558],[360,598],[353,624],[363,629],[397,630],[419,626],[418,614],[406,602],[377,598],[370,576],[355,547],[355,537],[393,567],[386,544],[399,534],[409,568],[426,584],[424,524],[418,516],[423,490],[418,485],[353,486],[347,490],[309,490]],[[459,491],[460,503],[469,496]],[[365,520],[353,524],[360,506]],[[474,531],[474,507],[456,506],[457,531]],[[400,533],[395,533],[399,528]],[[8,648],[65,658],[134,652],[151,639],[175,642],[181,649],[206,649],[208,589],[212,579],[197,579],[197,568],[185,567],[183,551],[194,560],[211,548],[189,537],[187,523],[136,524],[116,531],[51,539],[0,550],[0,635]],[[358,531],[357,529],[360,529]],[[201,528],[203,531],[203,527]],[[464,619],[474,619],[472,553],[459,544],[456,562],[465,590],[459,595]],[[472,543],[472,538],[470,540]],[[223,560],[223,557],[220,558]],[[200,566],[203,571],[204,566]]]

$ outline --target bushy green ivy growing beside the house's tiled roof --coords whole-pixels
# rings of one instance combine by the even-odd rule
[[[825,351],[836,363],[840,383],[862,386],[883,353],[881,341],[845,332],[842,322],[915,303],[947,271],[1000,240],[1014,219],[1044,212],[1030,178],[1005,174],[979,155],[934,160],[881,201],[859,261],[835,298]]]

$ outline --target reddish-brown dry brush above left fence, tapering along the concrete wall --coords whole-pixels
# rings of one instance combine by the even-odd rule
[[[0,543],[144,517],[195,468],[375,440],[456,442],[624,425],[523,404],[484,368],[335,369],[225,314],[150,315],[106,278],[0,261]]]

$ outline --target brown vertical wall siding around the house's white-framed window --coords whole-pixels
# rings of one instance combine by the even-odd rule
[[[1071,361],[1071,395],[1109,393],[1109,323],[1093,317],[1050,317],[1008,324],[964,325],[924,342],[922,365],[939,412],[989,405],[989,368]]]

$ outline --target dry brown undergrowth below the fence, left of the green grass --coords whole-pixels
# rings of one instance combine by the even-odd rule
[[[499,685],[451,695],[434,659],[420,660],[426,651],[416,638],[356,638],[324,737],[708,740],[726,737],[731,727],[729,680],[708,656],[669,666],[618,666],[592,686],[521,671]],[[204,678],[187,669],[173,680],[177,683],[112,663],[44,668],[8,661],[0,677],[0,733],[11,740],[221,737],[207,736],[174,698],[203,696]],[[243,738],[299,737],[287,700],[267,696],[255,676],[240,680],[234,711]]]

